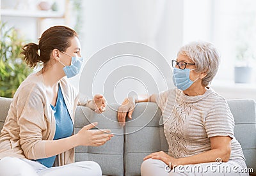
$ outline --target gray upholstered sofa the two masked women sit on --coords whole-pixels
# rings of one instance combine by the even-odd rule
[[[0,98],[0,129],[8,114],[12,99]],[[256,115],[252,99],[228,100],[234,115],[235,136],[243,147],[248,168],[256,173]],[[155,103],[138,103],[125,128],[116,122],[118,105],[109,105],[103,114],[89,108],[76,110],[76,131],[89,122],[99,122],[100,129],[111,129],[115,136],[100,147],[77,147],[76,161],[92,160],[99,163],[103,175],[140,175],[143,158],[152,152],[168,151],[168,145],[159,125],[161,110]],[[1,171],[0,171],[1,172]],[[253,173],[250,173],[253,174]]]

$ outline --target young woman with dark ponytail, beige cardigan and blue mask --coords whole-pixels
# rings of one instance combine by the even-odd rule
[[[51,27],[22,54],[28,66],[40,62],[44,67],[29,75],[13,97],[0,135],[0,175],[101,175],[95,162],[74,163],[74,147],[103,145],[113,136],[109,130],[90,130],[97,122],[74,134],[78,104],[97,113],[106,106],[102,95],[81,98],[67,81],[83,64],[77,33]]]

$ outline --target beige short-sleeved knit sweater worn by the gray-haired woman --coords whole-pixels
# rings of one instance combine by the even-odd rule
[[[211,88],[200,96],[186,96],[170,89],[157,96],[163,112],[164,135],[169,155],[184,158],[211,150],[212,136],[230,136],[230,159],[244,159],[241,145],[234,136],[234,117],[227,101]]]

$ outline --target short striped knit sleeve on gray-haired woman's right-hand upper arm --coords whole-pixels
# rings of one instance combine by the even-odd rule
[[[224,98],[218,99],[205,117],[205,131],[209,138],[212,136],[234,138],[234,117]]]

